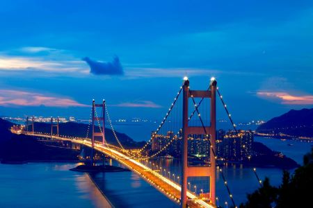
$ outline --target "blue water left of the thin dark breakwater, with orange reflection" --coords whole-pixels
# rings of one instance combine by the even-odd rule
[[[0,207],[105,207],[105,199],[74,163],[0,164]]]

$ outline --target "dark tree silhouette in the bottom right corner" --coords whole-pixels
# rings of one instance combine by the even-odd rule
[[[303,157],[300,166],[290,176],[288,171],[282,173],[282,184],[272,187],[268,178],[263,186],[252,194],[248,194],[248,202],[241,208],[289,208],[312,207],[313,193],[313,148],[311,153]]]

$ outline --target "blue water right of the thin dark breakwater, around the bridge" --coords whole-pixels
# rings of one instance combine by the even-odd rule
[[[255,141],[262,142],[273,150],[281,151],[284,155],[295,159],[299,164],[302,164],[303,155],[310,151],[312,144],[262,137],[256,137]],[[288,146],[288,144],[293,144],[293,146]],[[115,163],[113,162],[113,164]],[[154,168],[156,165],[166,168],[166,173],[163,172],[163,175],[168,175],[168,171],[170,171],[171,178],[173,178],[174,176],[172,174],[175,174],[175,180],[177,181],[177,175],[179,175],[180,172],[180,161],[178,159],[157,159],[154,160],[154,164]],[[228,166],[223,168],[223,172],[225,173],[225,177],[227,178],[227,182],[237,204],[245,202],[246,194],[251,193],[259,187],[252,168],[245,168],[240,165]],[[282,170],[278,168],[257,168],[257,173],[262,180],[264,180],[264,177],[269,177],[273,185],[278,186],[281,182]],[[128,205],[129,207],[146,207],[146,205],[141,204],[141,202],[152,202],[152,207],[154,207],[154,202],[162,202],[160,205],[163,207],[175,206],[171,205],[173,203],[170,200],[167,200],[167,198],[158,191],[154,191],[154,188],[134,173],[98,173],[93,177],[109,200],[117,207],[123,207],[122,205]],[[216,193],[220,202],[230,202],[227,190],[219,174],[217,174],[216,179]],[[190,178],[188,182],[191,183],[191,191],[197,191],[197,193],[200,193],[201,189],[203,189],[204,192],[209,191],[209,181],[205,177]],[[195,190],[194,186],[197,187],[197,190]]]

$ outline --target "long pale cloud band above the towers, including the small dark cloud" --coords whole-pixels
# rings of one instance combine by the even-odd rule
[[[15,50],[16,51],[16,50]],[[125,75],[122,78],[182,78],[183,76],[217,76],[218,73],[249,75],[242,71],[220,71],[197,67],[154,67],[155,63],[126,64],[122,67],[117,56],[112,62],[99,62],[90,58],[79,60],[70,51],[47,47],[28,46],[18,49],[30,54],[10,55],[0,51],[0,76],[8,74],[20,76],[27,71],[28,76],[86,76],[88,73],[106,75]],[[42,53],[45,52],[45,53]],[[47,53],[46,53],[47,52]],[[85,62],[90,66],[86,67]],[[125,69],[125,70],[124,70]],[[255,73],[253,73],[255,75]],[[24,76],[24,75],[23,75]]]

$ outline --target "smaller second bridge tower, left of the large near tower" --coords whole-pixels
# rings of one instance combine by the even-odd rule
[[[100,117],[97,116],[96,107],[102,107],[102,115]],[[93,100],[93,137],[91,139],[91,163],[93,164],[93,154],[95,148],[95,137],[102,137],[102,145],[105,144],[105,113],[106,113],[106,101],[103,100],[102,104],[96,104],[95,100]],[[99,126],[100,132],[95,132],[95,121],[102,121],[102,127]],[[98,123],[100,125],[100,123]]]

